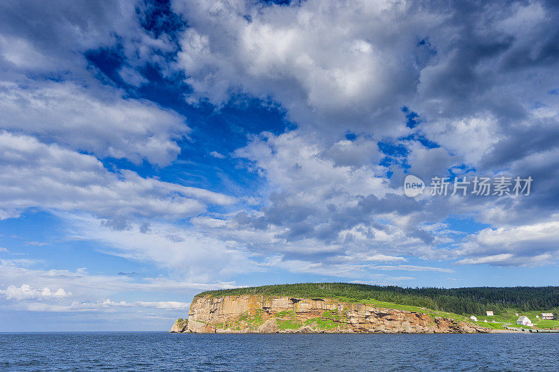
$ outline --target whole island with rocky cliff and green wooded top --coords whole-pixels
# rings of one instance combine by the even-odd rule
[[[544,296],[546,302],[558,301],[558,292],[550,300],[550,288],[553,287],[516,288],[509,305],[525,303],[530,297],[538,307],[535,298],[542,290],[548,294]],[[515,310],[504,307],[507,302],[500,298],[514,290],[399,288],[352,283],[215,290],[196,295],[187,320],[176,320],[170,332],[458,334],[507,332],[507,329],[514,332],[524,326],[513,324],[511,317],[516,315],[511,311]],[[495,315],[486,315],[493,312]],[[559,326],[557,320],[546,320],[545,324]]]

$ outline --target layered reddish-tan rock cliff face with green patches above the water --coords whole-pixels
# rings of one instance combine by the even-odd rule
[[[485,333],[488,329],[465,320],[335,299],[242,295],[195,297],[183,332]]]

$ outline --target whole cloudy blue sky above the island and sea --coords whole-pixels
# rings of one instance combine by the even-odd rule
[[[558,20],[2,1],[0,332],[168,330],[246,285],[559,285]]]

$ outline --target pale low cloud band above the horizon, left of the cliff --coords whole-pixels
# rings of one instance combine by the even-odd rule
[[[166,293],[167,297],[194,296],[202,290],[235,288],[233,283],[216,281],[200,283],[172,280],[164,276],[156,278],[130,278],[120,275],[90,274],[86,269],[31,268],[43,266],[44,262],[28,260],[0,260],[0,308],[17,311],[120,313],[133,310],[139,317],[142,309],[150,311],[180,311],[185,315],[189,303],[180,301],[154,301]],[[23,283],[23,284],[20,284]],[[57,288],[54,290],[52,288]],[[132,295],[133,294],[133,295]],[[114,297],[136,297],[113,301]],[[139,298],[138,298],[139,297]],[[112,315],[112,319],[115,320]]]

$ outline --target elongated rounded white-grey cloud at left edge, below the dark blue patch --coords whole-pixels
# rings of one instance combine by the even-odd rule
[[[31,86],[0,82],[0,126],[103,158],[143,159],[167,165],[180,152],[176,140],[189,133],[184,118],[149,101],[119,97],[113,89],[72,82]],[[38,85],[38,86],[37,86]]]

